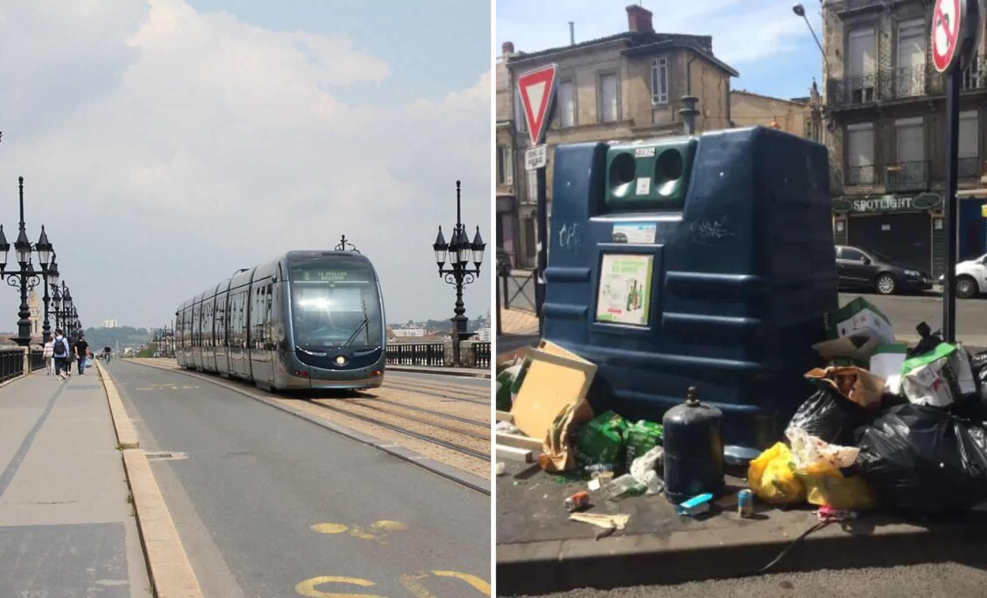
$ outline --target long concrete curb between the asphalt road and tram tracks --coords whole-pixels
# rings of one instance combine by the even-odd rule
[[[350,440],[355,440],[356,442],[359,442],[361,444],[365,444],[367,446],[371,446],[371,447],[373,447],[375,449],[378,449],[380,451],[383,451],[383,452],[387,453],[388,455],[391,455],[393,457],[397,457],[398,459],[401,459],[402,461],[406,461],[408,463],[411,463],[413,465],[416,465],[416,466],[420,467],[423,470],[426,470],[428,472],[431,472],[432,474],[435,474],[437,476],[440,476],[442,478],[445,478],[446,480],[449,480],[450,482],[455,482],[456,484],[460,484],[462,486],[467,486],[470,489],[476,490],[478,492],[482,492],[484,494],[487,494],[488,496],[491,495],[491,484],[488,481],[484,480],[483,478],[479,478],[479,477],[474,476],[472,474],[467,474],[466,472],[461,472],[461,471],[457,470],[456,468],[451,467],[451,466],[448,466],[448,465],[446,465],[446,464],[444,464],[444,463],[442,463],[440,461],[436,461],[436,460],[434,460],[434,459],[432,459],[430,457],[425,457],[424,455],[421,455],[421,454],[419,454],[419,453],[417,453],[417,452],[415,452],[415,451],[413,451],[411,449],[407,449],[407,448],[405,448],[403,446],[394,444],[392,441],[389,441],[389,440],[381,440],[380,438],[376,438],[374,436],[370,436],[369,434],[364,434],[364,433],[358,432],[358,431],[356,431],[356,430],[354,430],[352,428],[348,428],[348,427],[345,427],[345,426],[340,425],[338,423],[333,423],[332,421],[328,421],[326,419],[322,419],[321,417],[317,417],[317,416],[315,416],[315,415],[313,415],[311,413],[307,413],[307,412],[301,411],[301,410],[296,410],[296,409],[293,409],[293,408],[291,408],[289,406],[286,406],[286,405],[281,405],[280,403],[277,403],[276,401],[271,401],[270,399],[267,399],[266,397],[259,397],[258,395],[255,395],[253,393],[250,393],[250,392],[248,392],[245,389],[239,389],[239,388],[236,388],[235,386],[232,386],[230,384],[227,384],[227,380],[225,378],[220,378],[218,380],[214,380],[214,379],[212,379],[212,377],[210,377],[210,376],[208,376],[206,374],[200,374],[198,372],[190,372],[190,371],[187,371],[187,370],[182,369],[182,368],[164,367],[164,366],[161,366],[161,365],[155,365],[155,364],[152,364],[152,363],[145,363],[145,362],[142,362],[142,361],[133,361],[131,359],[127,359],[127,361],[130,361],[132,363],[136,363],[137,365],[143,365],[143,366],[146,366],[146,367],[154,367],[154,368],[157,368],[159,370],[166,370],[166,371],[171,371],[171,372],[178,372],[180,374],[184,374],[186,376],[189,376],[190,378],[195,378],[195,379],[198,379],[198,380],[203,380],[205,382],[210,382],[212,384],[215,384],[216,386],[220,386],[220,387],[225,388],[227,390],[230,390],[230,391],[233,391],[233,392],[238,393],[240,395],[243,395],[244,397],[248,397],[248,398],[253,399],[255,401],[259,401],[261,403],[264,403],[265,405],[268,405],[268,406],[270,406],[270,407],[272,407],[272,408],[274,408],[276,410],[284,411],[284,412],[290,413],[290,414],[292,414],[292,415],[294,415],[296,417],[300,417],[302,419],[305,419],[306,421],[309,421],[311,423],[314,423],[314,424],[318,425],[319,427],[325,428],[325,429],[327,429],[327,430],[329,430],[331,432],[336,432],[337,434],[340,434],[342,436],[345,436],[346,438],[349,438]]]

